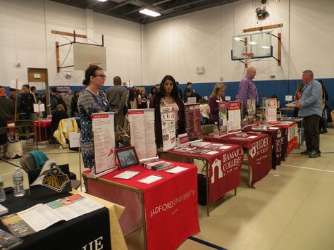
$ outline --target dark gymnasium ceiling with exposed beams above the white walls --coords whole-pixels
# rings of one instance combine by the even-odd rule
[[[130,20],[135,23],[153,23],[159,20],[172,18],[177,15],[200,11],[224,4],[230,4],[239,0],[108,0],[105,2],[97,0],[51,0],[57,3],[88,8],[94,12],[111,15],[116,18]],[[142,8],[161,13],[159,17],[153,18],[139,13]]]

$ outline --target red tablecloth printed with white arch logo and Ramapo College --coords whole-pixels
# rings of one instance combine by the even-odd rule
[[[205,158],[209,162],[209,203],[223,197],[230,190],[236,189],[240,184],[240,169],[244,160],[244,151],[241,146],[231,146],[230,149],[212,149],[219,151],[218,154],[191,154],[187,152],[167,151],[170,154],[190,156],[194,158]],[[223,144],[221,145],[223,146]]]

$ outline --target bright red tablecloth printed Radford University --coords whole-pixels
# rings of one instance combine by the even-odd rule
[[[185,163],[174,163],[174,165],[188,169],[173,175],[134,167],[129,170],[140,170],[141,173],[130,180],[113,178],[120,173],[120,170],[100,177],[142,189],[147,225],[147,249],[176,249],[185,239],[200,231],[197,213],[197,167]],[[90,173],[90,170],[85,173]],[[137,181],[152,174],[161,175],[163,179],[151,184]],[[89,193],[90,190],[94,190],[92,187],[96,182],[95,180],[87,182]],[[106,183],[104,185],[108,186]],[[92,194],[96,195],[94,192]],[[118,194],[107,195],[111,197]],[[127,209],[125,208],[125,211]]]

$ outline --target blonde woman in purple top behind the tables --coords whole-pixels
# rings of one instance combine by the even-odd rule
[[[209,107],[210,107],[210,115],[209,115],[209,123],[219,123],[219,109],[218,103],[224,101],[223,96],[225,92],[225,85],[222,82],[218,82],[214,86],[214,90],[209,97]]]

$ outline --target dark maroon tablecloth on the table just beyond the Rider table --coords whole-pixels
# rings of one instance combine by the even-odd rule
[[[252,127],[246,127],[243,131],[253,132]],[[273,144],[273,154],[271,156],[271,168],[276,169],[276,165],[280,165],[281,161],[285,161],[285,152],[287,150],[287,136],[283,127],[278,130],[254,131],[254,133],[261,132],[271,136]]]

